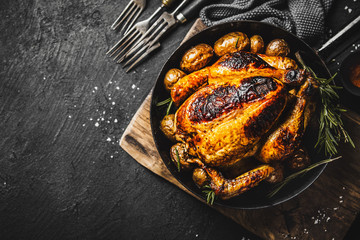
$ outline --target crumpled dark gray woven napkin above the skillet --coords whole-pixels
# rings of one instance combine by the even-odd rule
[[[207,26],[235,20],[274,24],[308,43],[325,36],[325,16],[334,0],[234,0],[203,8],[200,18]]]

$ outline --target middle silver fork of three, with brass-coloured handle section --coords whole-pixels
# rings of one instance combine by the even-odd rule
[[[164,9],[169,8],[178,0],[162,0],[161,6],[146,20],[135,24],[125,35],[106,53],[110,57],[114,57],[114,61],[127,51],[132,44],[137,41],[149,28],[154,18]]]

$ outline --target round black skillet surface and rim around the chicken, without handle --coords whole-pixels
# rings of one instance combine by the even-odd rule
[[[191,173],[183,171],[178,172],[175,164],[173,164],[170,159],[169,152],[173,143],[171,143],[160,130],[160,122],[166,114],[166,106],[157,107],[156,104],[169,97],[169,93],[163,86],[164,76],[169,69],[179,68],[181,57],[186,50],[199,43],[207,43],[213,46],[217,39],[233,31],[246,33],[249,37],[255,34],[261,35],[264,39],[265,45],[275,38],[283,38],[290,45],[291,55],[289,57],[295,59],[294,53],[299,51],[305,63],[310,66],[318,76],[325,78],[330,77],[329,70],[327,69],[325,63],[310,46],[295,35],[283,29],[262,22],[238,21],[216,25],[196,34],[183,43],[167,60],[157,78],[151,99],[150,121],[156,147],[171,174],[188,190],[203,199],[205,199],[204,194],[201,189],[193,183]],[[174,108],[172,109],[172,112],[175,112]],[[307,134],[303,139],[303,143],[309,151],[312,163],[324,159],[324,156],[320,156],[317,151],[314,150],[314,141],[317,139],[316,133],[317,130],[311,131],[311,129],[308,129]],[[216,200],[215,204],[239,209],[257,209],[277,205],[304,191],[319,177],[325,167],[326,165],[322,165],[311,170],[302,177],[296,178],[282,188],[272,198],[267,197],[267,195],[273,190],[274,185],[263,182],[238,197],[229,200]]]

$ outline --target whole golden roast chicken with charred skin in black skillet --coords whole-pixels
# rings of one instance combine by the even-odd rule
[[[171,158],[221,199],[262,180],[279,181],[281,163],[304,151],[301,139],[317,88],[288,57],[238,49],[211,66],[182,72],[170,92],[178,109],[162,122],[165,135],[177,142]]]

